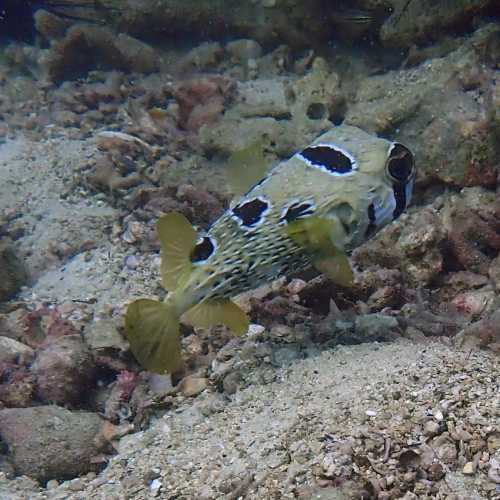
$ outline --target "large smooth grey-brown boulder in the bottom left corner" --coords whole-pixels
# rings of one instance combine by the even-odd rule
[[[0,410],[0,436],[9,446],[16,473],[39,481],[69,479],[95,470],[95,413],[58,406]]]

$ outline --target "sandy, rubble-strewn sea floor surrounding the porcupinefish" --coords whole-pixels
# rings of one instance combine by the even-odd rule
[[[330,14],[361,46],[304,46],[297,17],[269,44],[290,3],[253,2],[253,31],[189,48],[143,38],[142,11],[38,11],[45,40],[5,47],[0,498],[499,497],[498,13],[360,0]],[[246,336],[186,328],[182,372],[141,371],[123,313],[163,297],[156,219],[206,229],[238,152],[273,163],[344,119],[408,141],[423,172],[409,213],[353,256],[354,287],[270,283],[239,298]]]

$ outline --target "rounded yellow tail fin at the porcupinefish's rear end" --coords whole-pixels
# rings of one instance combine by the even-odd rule
[[[146,370],[171,373],[181,367],[179,318],[172,306],[150,299],[132,302],[125,316],[125,334]]]

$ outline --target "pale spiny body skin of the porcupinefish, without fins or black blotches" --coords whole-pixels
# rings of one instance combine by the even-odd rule
[[[312,165],[304,157],[310,149],[279,163],[212,225],[207,236],[215,250],[208,259],[195,263],[188,281],[169,294],[167,302],[175,303],[182,313],[206,299],[230,298],[310,265],[304,249],[288,236],[283,220],[294,203],[310,204],[313,208],[307,215],[338,222],[332,237],[335,246],[345,252],[406,208],[414,170],[408,182],[402,188],[399,185],[398,200],[395,179],[387,171],[394,143],[355,127],[339,126],[318,137],[309,148],[317,151],[314,147],[319,145],[327,151],[334,147],[347,153],[355,169],[332,173]],[[238,212],[237,207],[256,199],[259,201],[254,203],[267,204],[267,208],[258,223],[246,227],[234,210]],[[398,206],[402,201],[404,206]]]

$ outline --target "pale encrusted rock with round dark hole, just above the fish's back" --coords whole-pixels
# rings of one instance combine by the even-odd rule
[[[301,78],[277,77],[239,83],[221,120],[201,127],[199,138],[207,153],[231,155],[255,143],[269,145],[279,157],[301,146],[343,117],[344,96],[338,75],[316,58]]]

